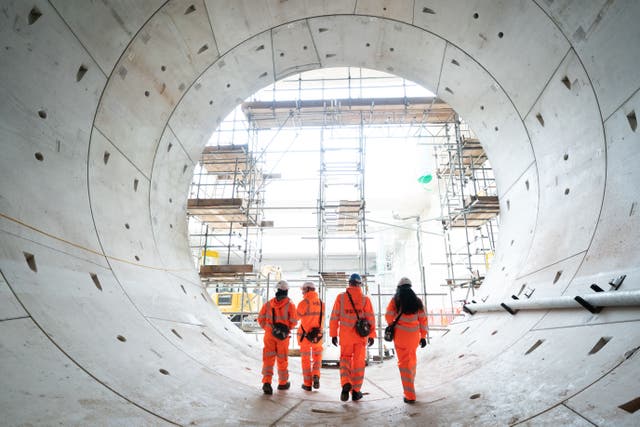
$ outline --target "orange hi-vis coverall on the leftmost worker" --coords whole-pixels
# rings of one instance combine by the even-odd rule
[[[275,319],[273,311],[275,311]],[[274,322],[284,323],[292,329],[298,323],[296,305],[288,297],[278,301],[275,298],[267,301],[260,309],[258,323],[264,329],[264,348],[262,349],[262,382],[271,383],[273,365],[278,359],[278,384],[284,385],[289,381],[289,338],[279,340],[271,333]]]

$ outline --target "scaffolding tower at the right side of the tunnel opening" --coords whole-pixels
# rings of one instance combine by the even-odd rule
[[[471,130],[456,116],[445,126],[446,142],[435,150],[447,278],[442,286],[464,290],[467,301],[480,287],[493,257],[500,204],[493,170]],[[453,306],[453,300],[451,301]]]

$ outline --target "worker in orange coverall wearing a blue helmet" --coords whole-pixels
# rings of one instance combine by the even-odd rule
[[[362,383],[366,345],[376,337],[375,317],[371,300],[362,293],[362,278],[358,273],[349,277],[349,286],[336,298],[331,311],[329,335],[334,346],[340,337],[340,400],[362,399]]]

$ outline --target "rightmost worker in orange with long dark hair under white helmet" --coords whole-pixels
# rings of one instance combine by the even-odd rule
[[[400,312],[402,314],[398,317]],[[388,324],[398,318],[393,343],[398,356],[404,401],[415,403],[416,350],[418,343],[421,348],[427,345],[427,315],[422,301],[411,289],[411,280],[406,277],[398,282],[396,294],[387,306],[385,318]]]

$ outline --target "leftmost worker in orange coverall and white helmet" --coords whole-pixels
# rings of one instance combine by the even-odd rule
[[[280,280],[276,286],[276,296],[260,309],[258,324],[264,329],[262,349],[262,391],[273,394],[271,378],[273,365],[278,361],[278,390],[288,390],[289,382],[289,331],[296,326],[296,306],[287,296],[289,284]]]

